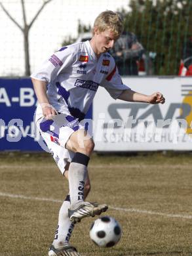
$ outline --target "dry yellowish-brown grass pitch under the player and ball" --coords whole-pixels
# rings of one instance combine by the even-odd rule
[[[0,256],[47,255],[61,203],[33,198],[62,200],[67,182],[48,154],[1,154],[0,161],[0,192],[31,198],[0,196]],[[93,156],[88,200],[111,205],[107,215],[121,223],[123,237],[111,249],[96,247],[88,234],[90,218],[75,226],[71,243],[86,256],[192,255],[192,219],[182,217],[192,215],[191,164],[187,154]]]

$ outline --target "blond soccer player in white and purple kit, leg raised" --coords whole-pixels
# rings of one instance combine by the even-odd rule
[[[122,83],[115,61],[107,53],[122,31],[120,16],[104,11],[94,22],[90,41],[62,47],[31,75],[39,102],[37,127],[60,171],[69,181],[69,194],[60,208],[49,256],[79,255],[69,244],[74,224],[107,210],[106,204],[85,202],[90,190],[87,166],[94,141],[80,122],[98,87],[105,87],[115,99],[164,103],[161,93],[142,95]]]

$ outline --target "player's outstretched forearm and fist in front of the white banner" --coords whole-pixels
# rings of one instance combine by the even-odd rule
[[[152,95],[143,95],[142,93],[136,93],[130,89],[123,91],[118,98],[129,102],[145,102],[150,104],[164,104],[165,102],[162,93],[156,92]]]

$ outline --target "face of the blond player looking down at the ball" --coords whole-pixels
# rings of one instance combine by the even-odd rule
[[[114,35],[110,30],[104,32],[95,31],[94,34],[94,50],[96,54],[106,53],[113,48],[115,41],[118,37]]]

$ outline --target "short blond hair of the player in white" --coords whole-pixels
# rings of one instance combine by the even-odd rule
[[[117,12],[104,11],[94,21],[94,28],[97,28],[99,32],[111,30],[115,36],[119,37],[123,32],[123,20]]]

